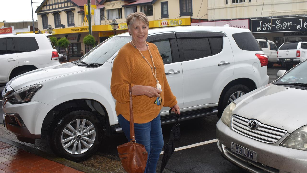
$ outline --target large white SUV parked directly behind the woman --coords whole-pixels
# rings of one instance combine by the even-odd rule
[[[128,33],[100,43],[82,58],[22,74],[2,92],[7,129],[19,140],[47,138],[59,156],[80,161],[105,134],[121,132],[111,95],[111,71]],[[150,29],[181,107],[180,121],[218,114],[236,98],[268,84],[267,57],[250,30],[216,26]],[[161,110],[161,122],[176,115]]]

